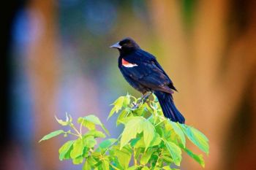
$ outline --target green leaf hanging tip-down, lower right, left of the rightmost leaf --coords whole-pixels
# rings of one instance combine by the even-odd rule
[[[170,156],[173,158],[174,163],[176,166],[181,165],[181,148],[178,147],[173,142],[167,142],[165,141],[165,146],[167,147],[167,150],[170,152]]]

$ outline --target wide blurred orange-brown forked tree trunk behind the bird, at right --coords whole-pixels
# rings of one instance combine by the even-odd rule
[[[174,98],[187,123],[195,125],[209,138],[206,169],[228,169],[223,152],[233,155],[237,148],[226,149],[233,142],[226,136],[230,134],[228,130],[233,131],[230,125],[239,109],[237,106],[243,104],[244,93],[249,93],[248,84],[255,79],[255,1],[237,0],[232,4],[225,0],[194,1],[196,10],[190,27],[182,18],[182,3],[184,1],[155,0],[149,4],[156,34],[164,49],[162,57],[168,61],[163,65],[180,91]],[[255,96],[252,99],[255,101]],[[225,143],[226,139],[229,143]],[[238,152],[246,158],[248,154],[246,149]],[[185,158],[187,169],[199,169],[191,158]],[[239,164],[238,158],[234,157],[233,165]],[[246,158],[243,165],[254,163]]]

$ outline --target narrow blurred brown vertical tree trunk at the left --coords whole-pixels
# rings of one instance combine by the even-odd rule
[[[56,140],[38,144],[42,135],[56,129],[53,115],[56,113],[56,82],[58,67],[56,64],[56,9],[54,1],[31,1],[29,5],[31,26],[36,29],[29,45],[29,77],[34,98],[35,143],[37,160],[42,169],[58,169],[58,148]],[[53,152],[54,151],[54,152]]]

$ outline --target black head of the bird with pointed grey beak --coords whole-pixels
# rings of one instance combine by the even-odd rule
[[[122,39],[120,42],[116,42],[116,44],[111,45],[110,48],[116,48],[119,50],[120,53],[129,53],[134,50],[140,49],[140,46],[137,45],[137,43],[133,39],[125,38]]]

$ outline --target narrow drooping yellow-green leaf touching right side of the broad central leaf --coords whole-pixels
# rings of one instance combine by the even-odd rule
[[[154,125],[152,125],[148,120],[143,122],[143,137],[146,149],[149,147],[150,143],[153,141],[155,136]]]

